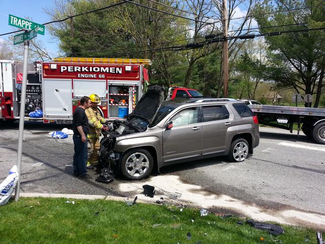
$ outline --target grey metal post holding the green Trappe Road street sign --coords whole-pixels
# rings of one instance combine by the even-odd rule
[[[15,201],[19,200],[20,178],[21,178],[21,158],[22,158],[22,140],[24,135],[24,117],[25,117],[25,99],[26,99],[26,83],[27,83],[27,66],[28,66],[28,49],[29,41],[24,41],[24,63],[22,71],[22,86],[21,86],[21,102],[19,113],[19,136],[18,136],[18,150],[17,150],[17,171],[18,181],[15,189]]]

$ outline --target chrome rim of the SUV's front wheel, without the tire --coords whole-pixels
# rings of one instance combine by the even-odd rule
[[[142,153],[135,153],[127,158],[125,169],[129,175],[139,177],[147,172],[149,165],[150,162],[146,155]]]

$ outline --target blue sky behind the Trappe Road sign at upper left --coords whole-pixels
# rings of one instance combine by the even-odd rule
[[[33,22],[40,24],[49,22],[50,17],[44,13],[43,8],[50,7],[52,4],[51,0],[0,0],[0,34],[17,31],[19,29],[8,24],[9,14],[21,18],[29,17]],[[17,34],[18,33],[15,33],[14,35]],[[0,36],[0,42],[8,39],[9,36],[10,35]],[[36,39],[41,40],[44,43],[44,46],[47,47],[47,50],[52,57],[57,56],[58,43],[51,37],[46,26],[45,35],[42,36],[38,34]]]

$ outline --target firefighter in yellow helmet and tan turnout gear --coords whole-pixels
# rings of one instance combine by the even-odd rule
[[[100,150],[100,135],[101,130],[108,130],[103,124],[106,123],[106,119],[103,118],[98,110],[98,103],[100,102],[99,96],[96,94],[91,94],[89,96],[91,101],[90,108],[85,110],[88,117],[89,123],[89,134],[88,137],[88,159],[87,159],[87,169],[93,169],[94,166],[99,164],[98,153]]]

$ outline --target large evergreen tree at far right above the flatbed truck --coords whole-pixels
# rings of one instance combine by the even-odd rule
[[[274,4],[273,4],[274,3]],[[305,8],[306,6],[310,8]],[[293,11],[287,11],[296,9]],[[268,12],[274,13],[272,17]],[[262,32],[299,31],[297,33],[266,36],[269,45],[265,80],[278,82],[279,87],[292,87],[305,94],[316,94],[325,69],[325,34],[323,31],[301,32],[304,29],[325,27],[325,7],[322,0],[264,1],[256,7],[255,19]],[[287,25],[271,28],[269,26]],[[268,28],[269,27],[269,28]],[[320,93],[317,94],[318,99]]]

